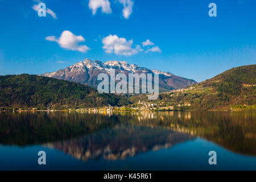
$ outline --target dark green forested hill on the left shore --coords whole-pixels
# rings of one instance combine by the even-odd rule
[[[36,75],[0,76],[0,107],[67,109],[126,104],[123,97],[100,94],[76,82]]]

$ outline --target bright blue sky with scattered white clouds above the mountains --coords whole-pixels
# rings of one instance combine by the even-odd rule
[[[40,1],[46,17],[35,10],[38,0],[0,0],[0,75],[52,72],[89,58],[203,81],[256,63],[254,0]],[[217,17],[208,15],[212,2]]]

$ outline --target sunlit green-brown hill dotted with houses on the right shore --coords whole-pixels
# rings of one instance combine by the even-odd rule
[[[156,104],[158,109],[256,109],[256,65],[232,68],[209,80],[185,89],[161,93],[158,100],[145,96],[130,98]]]

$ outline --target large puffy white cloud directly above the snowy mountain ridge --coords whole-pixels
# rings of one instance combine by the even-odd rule
[[[117,35],[106,36],[102,43],[106,53],[115,53],[117,55],[131,56],[138,53],[136,48],[132,47],[133,40],[126,40],[125,38],[119,38]]]

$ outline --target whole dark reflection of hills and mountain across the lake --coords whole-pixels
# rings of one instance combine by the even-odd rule
[[[166,111],[142,113],[0,113],[0,144],[40,144],[88,159],[126,159],[197,137],[256,156],[256,113]]]

